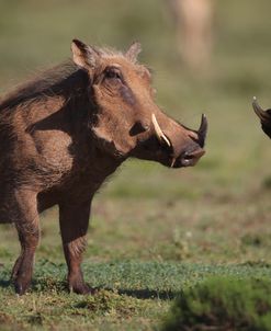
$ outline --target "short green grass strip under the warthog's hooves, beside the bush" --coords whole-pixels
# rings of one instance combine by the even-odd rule
[[[206,265],[176,262],[116,261],[86,263],[94,296],[68,294],[64,264],[48,260],[36,264],[32,290],[16,297],[9,282],[10,266],[0,269],[0,321],[20,328],[77,330],[150,330],[158,327],[172,298],[207,277],[262,278],[271,265]],[[151,319],[151,324],[149,321]]]

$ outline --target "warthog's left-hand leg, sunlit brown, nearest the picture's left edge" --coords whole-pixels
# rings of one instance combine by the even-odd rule
[[[14,282],[15,292],[23,295],[31,284],[34,255],[39,240],[35,193],[15,192],[11,209],[21,242],[21,254],[13,266],[11,278]]]

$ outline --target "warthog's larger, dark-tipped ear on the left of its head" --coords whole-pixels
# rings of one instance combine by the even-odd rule
[[[99,52],[78,39],[72,41],[71,52],[74,62],[86,70],[93,69],[99,62]]]

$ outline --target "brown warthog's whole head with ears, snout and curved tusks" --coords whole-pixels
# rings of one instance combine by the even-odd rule
[[[95,110],[91,130],[103,150],[172,168],[194,166],[204,155],[205,115],[199,130],[192,130],[158,107],[150,72],[136,61],[138,43],[122,54],[75,39],[71,50],[75,64],[89,75],[90,101]]]

